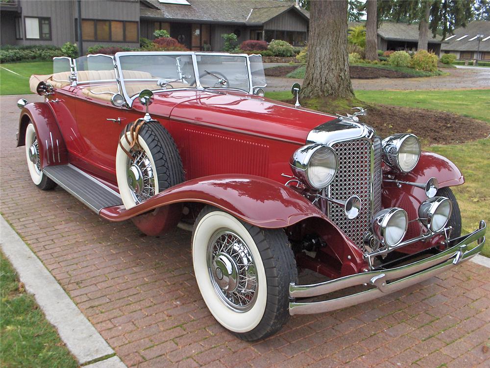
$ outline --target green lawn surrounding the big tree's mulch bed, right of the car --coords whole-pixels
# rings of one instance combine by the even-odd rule
[[[442,110],[490,123],[490,89],[438,91],[356,91],[367,103]],[[291,100],[290,91],[267,92],[274,100]],[[490,223],[490,139],[470,143],[423,147],[453,161],[465,176],[465,184],[453,187],[463,215],[463,233],[478,227],[481,219]],[[490,242],[482,252],[490,257]]]

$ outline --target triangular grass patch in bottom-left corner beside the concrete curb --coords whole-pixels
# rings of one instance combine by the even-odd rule
[[[0,366],[70,368],[75,358],[0,253]]]

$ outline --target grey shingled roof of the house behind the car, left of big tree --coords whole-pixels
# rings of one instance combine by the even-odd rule
[[[309,13],[296,8],[295,1],[279,0],[187,0],[190,5],[161,3],[158,0],[140,2],[141,18],[159,20],[197,21],[199,23],[225,23],[260,25],[293,9],[305,19]]]

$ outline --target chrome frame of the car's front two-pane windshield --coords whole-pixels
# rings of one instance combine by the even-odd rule
[[[248,55],[246,53],[215,53],[215,52],[194,52],[194,51],[179,51],[179,52],[174,52],[174,51],[146,51],[146,52],[120,52],[116,53],[114,58],[116,61],[116,68],[118,70],[118,75],[119,75],[119,83],[121,84],[121,92],[123,94],[124,100],[126,101],[128,106],[131,106],[133,104],[133,101],[138,97],[137,95],[135,96],[129,96],[128,93],[126,92],[126,88],[124,86],[124,78],[123,78],[123,72],[121,68],[121,61],[120,58],[123,56],[131,56],[131,55],[147,55],[147,56],[155,56],[155,55],[190,55],[192,58],[192,64],[193,64],[193,72],[194,72],[194,78],[196,79],[196,86],[195,87],[178,87],[178,88],[167,88],[167,89],[158,89],[154,90],[153,92],[167,92],[167,91],[176,91],[176,90],[234,90],[234,91],[239,91],[239,92],[245,92],[248,94],[253,94],[253,89],[255,86],[252,85],[252,74],[250,71],[250,60],[248,58]],[[245,63],[246,63],[246,71],[247,71],[247,78],[248,78],[248,90],[245,89],[240,89],[240,88],[232,88],[232,87],[216,87],[216,88],[211,88],[211,87],[206,87],[204,88],[201,85],[201,82],[199,80],[199,69],[197,65],[197,55],[210,55],[210,56],[241,56],[245,57]],[[137,79],[132,79],[132,81],[137,80]],[[147,80],[147,79],[142,79]]]

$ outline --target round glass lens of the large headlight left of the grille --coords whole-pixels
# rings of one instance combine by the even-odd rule
[[[306,168],[308,181],[315,188],[324,188],[332,182],[337,172],[337,156],[327,146],[320,146],[310,158]]]

